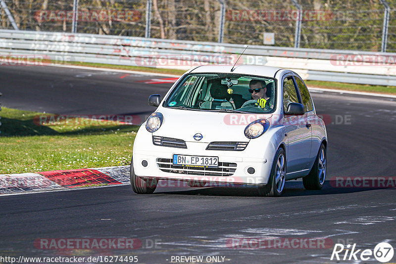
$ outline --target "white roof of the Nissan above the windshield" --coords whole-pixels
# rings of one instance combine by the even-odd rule
[[[193,69],[191,73],[231,73],[231,69],[232,65],[204,65],[198,66],[197,68]],[[278,72],[279,70],[284,69],[263,65],[242,64],[235,66],[232,73],[258,75],[274,78],[276,72]]]

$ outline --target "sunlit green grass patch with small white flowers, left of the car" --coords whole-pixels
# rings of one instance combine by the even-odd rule
[[[129,165],[138,126],[70,119],[37,125],[48,115],[2,107],[0,174]]]

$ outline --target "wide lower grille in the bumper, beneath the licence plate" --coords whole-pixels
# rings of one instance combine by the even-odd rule
[[[219,162],[218,168],[191,168],[173,166],[172,159],[157,158],[158,168],[165,173],[179,173],[200,176],[232,176],[237,169],[236,163]]]

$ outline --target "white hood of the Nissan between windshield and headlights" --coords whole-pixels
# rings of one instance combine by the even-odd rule
[[[193,136],[200,133],[203,137],[198,142],[204,143],[247,142],[249,139],[245,136],[246,126],[257,119],[270,119],[272,116],[271,114],[220,113],[172,108],[160,108],[158,112],[163,115],[163,122],[153,135],[197,142]]]

